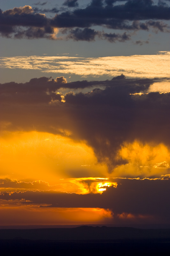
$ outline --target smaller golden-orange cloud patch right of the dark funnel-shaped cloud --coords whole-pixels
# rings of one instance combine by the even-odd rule
[[[117,157],[129,162],[115,169],[114,174],[119,177],[159,177],[169,172],[170,150],[164,144],[144,144],[137,140],[125,142]]]

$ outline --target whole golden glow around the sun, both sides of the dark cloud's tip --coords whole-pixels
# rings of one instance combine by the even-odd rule
[[[108,177],[159,177],[168,170],[154,167],[157,163],[170,162],[170,152],[165,145],[134,141],[132,144],[125,142],[117,152],[117,158],[127,160],[128,164],[120,165],[108,174],[106,164],[97,163],[92,148],[85,141],[74,141],[69,138],[70,133],[64,134],[2,132],[1,178],[45,180],[51,186],[59,184],[59,190],[85,194],[101,192],[113,185],[106,180]]]

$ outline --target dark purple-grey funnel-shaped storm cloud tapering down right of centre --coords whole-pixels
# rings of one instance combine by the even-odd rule
[[[65,96],[67,104],[77,109],[73,116],[80,137],[89,142],[98,160],[107,162],[110,170],[125,163],[121,158],[115,158],[123,141],[154,141],[155,144],[170,145],[170,93],[155,92],[137,97],[129,93],[143,91],[147,86],[118,84],[85,95]]]

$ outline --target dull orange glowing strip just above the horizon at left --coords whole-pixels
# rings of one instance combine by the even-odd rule
[[[81,225],[103,224],[112,212],[102,208],[57,208],[38,206],[0,206],[0,226],[5,225]]]

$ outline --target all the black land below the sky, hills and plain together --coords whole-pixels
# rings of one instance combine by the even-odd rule
[[[170,255],[170,229],[1,229],[1,255]]]

